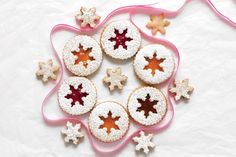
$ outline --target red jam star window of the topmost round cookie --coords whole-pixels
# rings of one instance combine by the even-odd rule
[[[133,39],[131,39],[131,38],[129,38],[129,37],[126,37],[126,36],[125,36],[126,33],[127,33],[127,29],[125,29],[125,30],[123,31],[123,33],[121,33],[121,34],[119,33],[119,31],[118,31],[117,29],[115,29],[115,34],[116,34],[116,36],[109,39],[110,41],[115,41],[115,42],[116,42],[116,44],[114,45],[114,49],[115,49],[115,50],[118,49],[118,47],[119,47],[120,45],[121,45],[124,49],[127,50],[127,45],[125,44],[125,42],[126,42],[126,41],[131,41],[131,40],[133,40]]]

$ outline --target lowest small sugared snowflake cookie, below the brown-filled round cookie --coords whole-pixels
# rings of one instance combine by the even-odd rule
[[[140,150],[143,149],[143,152],[145,154],[149,153],[149,147],[154,148],[155,144],[151,141],[153,138],[153,134],[148,134],[147,136],[144,134],[143,131],[141,131],[139,137],[134,137],[133,140],[134,142],[137,142],[138,144],[136,145],[135,149]]]

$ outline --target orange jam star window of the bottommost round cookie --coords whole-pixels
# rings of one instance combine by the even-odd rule
[[[120,128],[116,125],[116,121],[119,120],[120,117],[112,118],[111,111],[108,112],[107,118],[100,116],[99,117],[104,123],[99,127],[99,129],[107,128],[107,133],[111,133],[111,128],[115,130],[119,130]]]

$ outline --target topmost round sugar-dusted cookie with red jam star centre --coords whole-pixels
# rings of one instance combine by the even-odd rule
[[[111,22],[101,35],[104,52],[115,59],[128,59],[134,56],[140,44],[140,33],[129,21]]]

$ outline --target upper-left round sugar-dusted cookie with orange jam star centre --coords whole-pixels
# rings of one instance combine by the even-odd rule
[[[102,50],[91,37],[78,35],[71,38],[63,50],[63,60],[69,71],[78,76],[94,73],[102,63]]]

